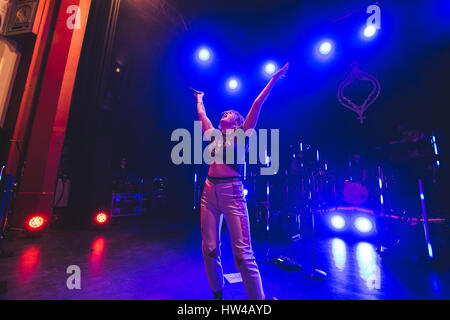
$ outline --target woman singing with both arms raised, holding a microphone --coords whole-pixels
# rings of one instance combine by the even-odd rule
[[[227,149],[233,148],[238,153],[239,150],[244,151],[243,154],[237,155],[235,152],[235,156],[240,159],[245,158],[245,149],[236,148],[236,141],[227,139],[228,133],[240,128],[248,134],[251,129],[255,128],[262,105],[275,83],[286,76],[288,68],[289,63],[286,63],[272,76],[267,86],[256,98],[245,120],[239,112],[234,110],[223,113],[219,124],[219,129],[224,135],[224,142],[220,145],[222,154],[225,154]],[[206,116],[203,104],[204,93],[199,92],[195,96],[202,130],[209,138],[214,127]],[[250,300],[264,300],[261,276],[251,246],[247,203],[241,181],[242,165],[237,163],[239,161],[232,164],[228,164],[228,161],[227,164],[225,161],[217,162],[213,161],[209,166],[208,178],[201,197],[202,251],[214,299],[223,299],[224,279],[220,261],[220,230],[224,216],[230,233],[234,262],[237,270],[241,273],[247,296]]]

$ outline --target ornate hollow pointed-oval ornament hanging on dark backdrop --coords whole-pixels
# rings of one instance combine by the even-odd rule
[[[359,115],[358,119],[362,124],[365,119],[365,117],[363,116],[364,112],[372,105],[372,103],[375,102],[375,100],[380,95],[380,83],[375,77],[371,76],[368,73],[365,73],[364,71],[359,70],[358,62],[352,62],[351,67],[352,71],[344,80],[344,82],[342,82],[341,85],[339,86],[337,97],[339,102],[344,107],[356,112]],[[355,104],[352,100],[344,96],[345,87],[349,86],[356,80],[369,81],[373,85],[373,90],[370,92],[370,94],[367,96],[367,98],[361,105]]]

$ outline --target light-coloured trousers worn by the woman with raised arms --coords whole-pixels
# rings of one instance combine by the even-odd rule
[[[202,251],[212,291],[224,286],[220,261],[220,231],[225,217],[230,233],[234,263],[241,273],[250,300],[264,300],[258,265],[253,254],[247,202],[239,179],[212,182],[206,180],[201,199]],[[222,215],[223,213],[223,215]]]

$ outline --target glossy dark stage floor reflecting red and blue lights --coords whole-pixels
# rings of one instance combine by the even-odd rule
[[[226,230],[225,273],[237,272]],[[449,299],[450,272],[404,263],[387,265],[366,241],[317,239],[316,265],[325,280],[312,280],[311,243],[271,245],[269,257],[286,255],[303,271],[286,272],[265,262],[268,244],[253,240],[267,299]],[[199,224],[156,225],[140,220],[103,230],[13,236],[0,259],[0,299],[208,300]],[[67,267],[81,269],[81,290],[69,290]],[[242,283],[226,284],[224,298],[246,299]]]

